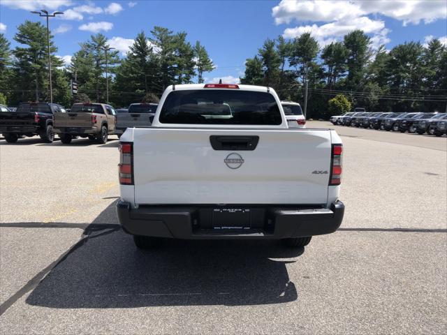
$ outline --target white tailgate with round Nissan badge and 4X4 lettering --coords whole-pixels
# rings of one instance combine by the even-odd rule
[[[137,204],[327,202],[329,130],[135,128],[132,131]],[[210,136],[258,136],[258,144],[254,150],[217,150],[213,149]],[[243,160],[240,167],[237,155]],[[237,159],[232,161],[233,158]]]

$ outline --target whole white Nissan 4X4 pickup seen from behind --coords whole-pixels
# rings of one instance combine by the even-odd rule
[[[302,247],[342,223],[342,141],[288,128],[268,87],[170,86],[152,128],[128,128],[119,151],[117,214],[139,248],[159,237]]]

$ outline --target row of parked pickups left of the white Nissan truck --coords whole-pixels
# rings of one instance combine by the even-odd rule
[[[73,138],[84,137],[106,143],[108,135],[121,136],[128,127],[149,127],[156,110],[154,103],[133,103],[119,110],[104,103],[75,103],[65,109],[57,103],[20,103],[15,112],[0,105],[0,133],[6,142],[39,135],[51,143],[54,135],[68,144]]]

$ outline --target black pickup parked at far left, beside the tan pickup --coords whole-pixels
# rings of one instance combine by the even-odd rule
[[[8,143],[34,135],[51,143],[54,140],[53,115],[57,112],[65,112],[57,103],[20,103],[15,112],[0,113],[0,133]]]

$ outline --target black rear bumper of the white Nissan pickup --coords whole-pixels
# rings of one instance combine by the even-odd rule
[[[214,207],[210,206],[140,206],[133,209],[129,202],[120,200],[117,214],[119,223],[129,234],[175,239],[285,239],[329,234],[339,228],[344,216],[341,201],[332,203],[329,209],[249,207],[251,226],[243,229],[213,227]]]

